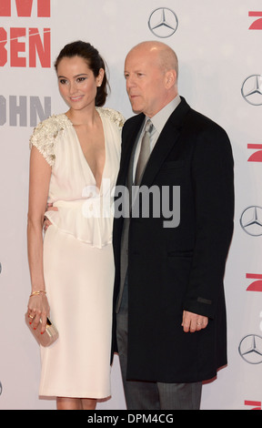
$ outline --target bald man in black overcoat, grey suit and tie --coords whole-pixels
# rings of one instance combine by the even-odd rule
[[[176,54],[163,43],[126,56],[136,116],[123,128],[116,189],[133,199],[114,221],[112,351],[128,410],[199,409],[202,382],[227,364],[232,150],[226,132],[179,97],[177,74]]]

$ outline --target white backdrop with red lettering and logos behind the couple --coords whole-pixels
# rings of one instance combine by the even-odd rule
[[[151,25],[161,22],[163,8],[171,9],[165,14],[176,29],[171,36],[166,25],[157,35],[148,25],[153,12]],[[53,63],[79,38],[106,58],[112,89],[106,107],[133,114],[123,77],[126,53],[140,41],[162,40],[179,58],[180,95],[227,130],[236,174],[225,277],[228,365],[204,386],[202,409],[261,409],[261,16],[259,0],[0,0],[0,409],[55,409],[55,400],[38,398],[39,351],[24,323],[28,140],[37,122],[65,111]],[[97,407],[126,408],[117,357],[112,398]]]

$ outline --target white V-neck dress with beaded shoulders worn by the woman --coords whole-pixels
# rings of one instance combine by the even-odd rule
[[[30,139],[52,167],[48,202],[58,208],[45,213],[52,222],[44,239],[45,287],[59,338],[41,347],[42,396],[110,395],[113,195],[124,118],[96,110],[106,145],[100,189],[65,114],[44,120]]]

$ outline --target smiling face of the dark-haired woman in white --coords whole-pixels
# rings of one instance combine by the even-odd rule
[[[97,87],[103,82],[103,68],[95,77],[81,56],[64,57],[57,66],[57,77],[60,94],[69,107],[82,110],[95,106]]]

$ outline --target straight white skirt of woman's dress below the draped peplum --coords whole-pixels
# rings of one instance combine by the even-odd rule
[[[110,395],[112,244],[93,248],[49,226],[44,272],[50,319],[59,338],[41,347],[39,395],[106,398]]]

